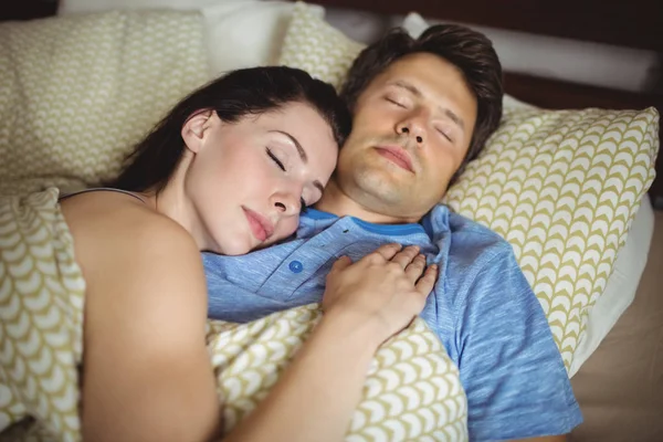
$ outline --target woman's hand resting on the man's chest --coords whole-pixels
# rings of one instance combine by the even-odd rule
[[[343,313],[358,325],[377,326],[378,345],[407,327],[421,313],[438,277],[425,269],[419,248],[387,244],[352,263],[340,257],[327,275],[323,298],[326,316]]]

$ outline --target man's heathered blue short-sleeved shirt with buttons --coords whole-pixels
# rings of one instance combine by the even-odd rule
[[[421,317],[457,365],[470,439],[564,434],[582,421],[541,305],[513,249],[438,206],[421,224],[372,224],[308,210],[293,241],[243,256],[203,254],[211,318],[244,323],[320,302],[341,255],[419,245],[440,276]]]

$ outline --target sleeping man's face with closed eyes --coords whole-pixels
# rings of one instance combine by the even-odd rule
[[[429,53],[404,56],[359,96],[336,183],[366,209],[419,220],[444,196],[475,120],[476,98],[457,67]]]

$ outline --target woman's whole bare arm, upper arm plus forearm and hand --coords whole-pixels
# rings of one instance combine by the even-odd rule
[[[208,441],[221,429],[221,407],[204,345],[200,254],[179,225],[136,210],[65,210],[87,282],[83,438]],[[423,260],[410,265],[414,249],[398,250],[335,264],[323,319],[225,440],[343,439],[373,352],[421,311],[434,283],[435,272],[420,278]]]

